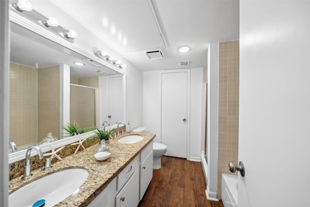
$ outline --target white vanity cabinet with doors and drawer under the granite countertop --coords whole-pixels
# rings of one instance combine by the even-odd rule
[[[88,207],[137,207],[153,177],[153,142],[149,143]]]

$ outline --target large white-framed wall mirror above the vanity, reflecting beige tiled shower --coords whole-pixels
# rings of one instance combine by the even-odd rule
[[[9,162],[16,153],[24,156],[20,150],[40,144],[47,133],[59,141],[66,139],[62,125],[76,121],[81,127],[102,127],[104,121],[110,125],[124,121],[124,72],[107,66],[93,54],[70,45],[68,48],[72,43],[64,46],[55,41],[57,37],[53,41],[48,32],[39,34],[33,28],[35,24],[27,28],[28,20],[19,23],[22,18],[15,16],[10,16],[9,140],[18,151],[12,152],[8,143]],[[86,105],[85,100],[90,99]],[[85,121],[87,117],[90,121]]]

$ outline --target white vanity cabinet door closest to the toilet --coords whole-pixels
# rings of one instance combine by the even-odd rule
[[[140,164],[140,200],[153,177],[153,150]]]

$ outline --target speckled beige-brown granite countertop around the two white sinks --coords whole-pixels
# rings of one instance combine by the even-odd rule
[[[144,139],[138,143],[122,144],[117,140],[126,135],[141,135]],[[55,207],[85,207],[116,177],[126,165],[130,163],[144,147],[155,138],[155,134],[149,133],[125,133],[115,140],[109,140],[111,156],[105,161],[97,161],[93,155],[98,144],[94,144],[85,150],[79,151],[76,155],[69,155],[61,161],[51,164],[52,169],[43,172],[41,169],[33,170],[31,178],[21,180],[16,177],[10,181],[9,193],[18,190],[22,186],[39,179],[43,176],[69,168],[84,168],[89,176],[79,188],[78,193],[72,194]]]

